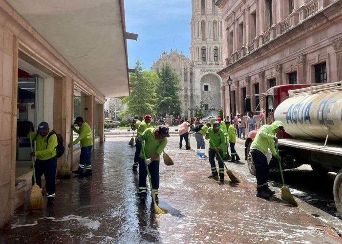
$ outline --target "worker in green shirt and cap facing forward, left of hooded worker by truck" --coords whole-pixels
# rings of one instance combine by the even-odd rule
[[[209,127],[205,139],[209,139],[209,163],[212,167],[212,175],[208,176],[209,179],[218,180],[220,177],[220,185],[224,184],[224,164],[222,161],[223,152],[222,148],[226,146],[226,139],[223,130],[220,129],[220,123],[215,121],[213,127]],[[216,154],[220,154],[218,157]],[[218,161],[218,174],[215,164],[215,155]]]

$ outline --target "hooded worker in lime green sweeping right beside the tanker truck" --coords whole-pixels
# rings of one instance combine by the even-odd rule
[[[275,143],[278,142],[277,133],[280,131],[285,131],[284,124],[280,121],[275,121],[271,125],[265,124],[261,126],[250,147],[256,167],[256,196],[259,198],[267,199],[276,193],[268,186],[269,168],[265,154],[269,148],[272,155],[280,160],[279,153],[275,148]]]

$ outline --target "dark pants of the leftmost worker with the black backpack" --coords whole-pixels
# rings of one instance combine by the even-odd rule
[[[53,157],[48,160],[39,160],[36,159],[34,165],[35,173],[36,173],[36,183],[42,188],[42,175],[45,177],[45,186],[47,197],[55,197],[56,192],[56,169],[57,169],[57,157]],[[34,183],[32,176],[32,184]]]

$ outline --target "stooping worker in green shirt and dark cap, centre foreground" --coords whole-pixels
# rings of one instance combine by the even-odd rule
[[[152,189],[155,193],[155,201],[159,202],[158,189],[159,189],[159,160],[160,154],[164,151],[166,144],[168,143],[167,137],[169,135],[169,128],[164,124],[158,128],[147,128],[142,135],[136,140],[144,146],[144,152],[142,151],[139,155],[139,199],[141,203],[145,202],[147,196],[146,188],[146,177],[147,170],[146,166],[149,167]]]

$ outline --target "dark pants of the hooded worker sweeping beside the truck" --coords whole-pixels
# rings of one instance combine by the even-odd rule
[[[251,154],[256,167],[256,188],[268,185],[269,170],[265,154],[256,149]]]

